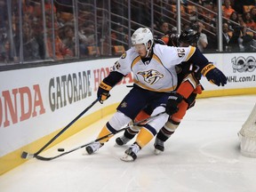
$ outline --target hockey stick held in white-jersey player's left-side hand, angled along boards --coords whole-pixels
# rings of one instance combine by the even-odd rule
[[[73,119],[68,125],[66,125],[60,132],[58,132],[58,134],[56,134],[52,140],[49,140],[42,148],[40,148],[35,154],[29,154],[28,152],[26,151],[23,151],[22,154],[21,154],[21,158],[25,158],[25,159],[28,159],[28,158],[33,158],[33,157],[36,157],[38,154],[40,154],[44,148],[47,148],[52,142],[53,140],[56,140],[58,137],[60,137],[60,134],[62,134],[63,132],[65,132],[72,124],[74,124],[81,116],[84,116],[84,114],[90,109],[92,108],[92,106],[95,105],[95,103],[100,100],[100,98],[97,98],[96,100],[94,100],[92,102],[92,104],[85,108],[84,111],[82,113],[80,113],[78,116],[76,116],[75,119]]]

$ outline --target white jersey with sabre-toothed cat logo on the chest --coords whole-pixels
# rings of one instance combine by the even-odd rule
[[[175,66],[187,61],[195,47],[171,47],[155,44],[151,60],[142,62],[135,48],[129,49],[117,60],[113,70],[124,76],[133,73],[134,84],[153,92],[172,92],[178,82]]]

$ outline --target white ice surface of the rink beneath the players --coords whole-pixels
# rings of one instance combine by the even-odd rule
[[[0,191],[255,192],[256,158],[240,154],[237,137],[255,103],[256,95],[197,100],[159,156],[152,140],[125,163],[120,157],[128,146],[116,147],[115,136],[91,156],[82,148],[49,162],[31,159],[0,177]],[[110,117],[41,155],[95,140]]]

